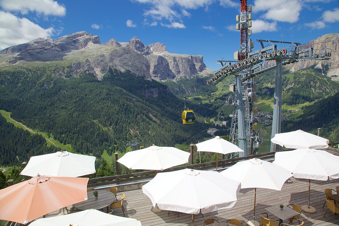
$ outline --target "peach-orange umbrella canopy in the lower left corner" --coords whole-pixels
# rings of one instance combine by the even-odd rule
[[[26,224],[87,200],[88,178],[35,176],[0,190],[0,219]]]

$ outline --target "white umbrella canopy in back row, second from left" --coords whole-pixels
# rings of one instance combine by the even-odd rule
[[[173,147],[158,147],[130,151],[118,162],[128,169],[164,170],[173,166],[188,163],[190,153]]]

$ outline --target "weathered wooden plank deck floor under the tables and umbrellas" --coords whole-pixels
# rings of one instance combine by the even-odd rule
[[[265,208],[276,204],[298,204],[300,206],[307,204],[308,197],[308,180],[291,178],[292,183],[285,183],[281,191],[257,189],[257,204],[256,204],[256,220],[260,221],[260,213],[266,212]],[[316,213],[310,214],[302,212],[300,219],[304,221],[304,225],[333,225],[333,214],[328,212],[323,218],[327,207],[325,205],[324,189],[335,188],[339,186],[339,180],[334,181],[312,181],[311,180],[311,206],[317,209]],[[188,192],[188,191],[187,191]],[[161,213],[153,213],[151,211],[152,203],[149,198],[142,193],[141,190],[123,192],[126,195],[124,201],[126,217],[135,218],[141,221],[143,226],[151,225],[192,225],[191,215],[162,211]],[[118,193],[119,194],[119,193]],[[226,210],[219,210],[212,213],[195,215],[196,226],[202,226],[204,220],[207,218],[215,218],[219,222],[225,222],[230,218],[237,218],[242,222],[252,220],[254,204],[254,189],[242,189],[238,196],[238,202],[235,207]],[[113,210],[113,214],[123,216],[121,208]],[[272,220],[279,220],[272,214],[269,218]],[[247,225],[247,224],[243,224]],[[339,215],[335,216],[335,224],[339,225]]]

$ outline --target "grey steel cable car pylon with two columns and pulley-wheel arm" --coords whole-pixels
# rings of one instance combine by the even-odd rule
[[[238,25],[237,25],[238,27]],[[276,68],[276,80],[275,80],[275,93],[274,93],[274,110],[273,110],[273,123],[272,123],[272,136],[274,137],[276,133],[280,133],[280,125],[281,125],[281,92],[282,92],[282,65],[305,61],[305,60],[328,60],[331,59],[332,49],[326,48],[326,46],[322,49],[313,49],[313,48],[305,48],[307,46],[299,46],[300,43],[297,42],[283,42],[283,41],[272,41],[272,40],[257,40],[260,42],[262,49],[248,52],[247,58],[244,60],[238,60],[236,63],[231,64],[231,61],[222,61],[224,64],[221,69],[214,73],[214,76],[207,80],[207,84],[216,86],[219,82],[221,82],[227,76],[235,76],[236,77],[236,100],[233,102],[235,105],[235,109],[237,110],[237,114],[233,114],[232,117],[232,128],[231,128],[231,136],[230,139],[233,141],[238,141],[238,146],[242,150],[245,151],[246,154],[246,146],[244,146],[243,137],[246,137],[246,143],[250,144],[251,140],[248,141],[248,137],[256,132],[253,130],[253,100],[255,100],[254,90],[256,84],[254,81],[256,80],[257,75],[272,70]],[[269,42],[271,45],[265,47],[263,42]],[[277,49],[277,45],[273,43],[285,43],[285,44],[294,44],[294,46],[285,48],[285,49]],[[237,52],[236,52],[237,53]],[[239,52],[240,53],[240,52]],[[227,63],[230,62],[230,63]],[[241,79],[240,79],[241,78]],[[247,84],[247,86],[245,86]],[[249,84],[249,86],[248,86]],[[252,86],[252,87],[251,87]],[[239,87],[239,89],[238,89]],[[246,87],[248,91],[251,92],[242,92],[241,88]],[[248,100],[248,105],[245,105],[244,102]],[[248,107],[248,112],[246,115],[242,114]],[[240,113],[239,113],[240,112]],[[244,134],[244,130],[242,128],[247,125],[247,118],[250,118],[250,126],[249,130],[246,130],[246,134]],[[251,128],[252,126],[252,128]],[[258,134],[254,139],[254,142],[258,140]],[[245,143],[245,145],[246,145]],[[258,144],[258,143],[256,143]],[[246,147],[246,148],[244,148]],[[244,148],[244,149],[243,149]],[[271,151],[274,151],[274,146],[271,145]]]

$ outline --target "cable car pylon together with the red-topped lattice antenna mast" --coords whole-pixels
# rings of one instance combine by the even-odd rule
[[[240,0],[241,15],[236,16],[239,22],[236,24],[240,30],[240,50],[235,52],[234,60],[218,60],[222,68],[214,73],[214,76],[207,80],[207,84],[216,86],[228,76],[235,76],[236,81],[228,83],[233,86],[236,93],[234,100],[230,98],[234,105],[230,141],[244,150],[239,153],[239,157],[250,154],[251,147],[255,149],[259,145],[259,133],[255,131],[253,115],[256,101],[256,78],[257,75],[276,69],[275,92],[273,107],[273,122],[271,138],[276,133],[281,132],[281,93],[282,93],[282,65],[303,61],[303,60],[327,60],[331,58],[332,49],[303,48],[301,43],[283,42],[272,40],[257,40],[261,44],[260,50],[252,51],[253,41],[248,39],[252,34],[249,29],[252,26],[252,6],[247,6],[247,0]],[[264,46],[268,43],[268,46]],[[277,49],[275,43],[292,44],[293,46]],[[225,84],[224,84],[225,85]],[[252,139],[251,139],[252,137]],[[270,151],[274,151],[275,146],[271,144]],[[252,153],[251,153],[252,154]]]

